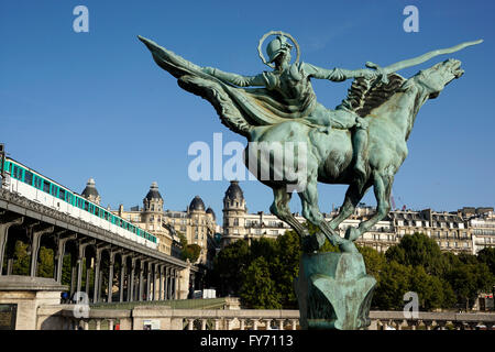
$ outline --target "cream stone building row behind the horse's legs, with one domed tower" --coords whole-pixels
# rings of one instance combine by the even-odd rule
[[[424,210],[394,210],[364,233],[356,243],[371,246],[378,252],[385,252],[392,245],[399,243],[406,234],[421,232],[435,239],[442,251],[459,253],[475,253],[482,245],[495,245],[495,217],[493,208],[479,208],[486,211],[483,217],[476,215],[468,220],[462,211],[437,212]],[[490,212],[492,209],[492,212]],[[339,226],[341,235],[349,227],[358,227],[363,220],[375,213],[375,208],[360,204],[354,213]],[[338,209],[323,213],[327,221],[338,215]],[[306,219],[295,213],[300,222]],[[221,248],[243,239],[251,241],[261,237],[277,238],[290,227],[274,215],[249,213],[243,191],[238,182],[231,182],[223,198],[223,233]],[[477,237],[476,237],[477,235]],[[477,239],[477,240],[476,240]],[[482,243],[475,246],[475,242]]]

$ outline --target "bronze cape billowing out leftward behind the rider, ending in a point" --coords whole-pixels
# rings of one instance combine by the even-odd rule
[[[208,100],[217,110],[221,122],[233,132],[249,138],[254,127],[287,121],[282,112],[277,113],[277,101],[266,88],[235,87],[205,73],[202,67],[155,42],[142,36],[139,38],[160,67],[176,77],[183,89]]]

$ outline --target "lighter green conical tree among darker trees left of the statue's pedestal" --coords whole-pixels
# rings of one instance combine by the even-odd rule
[[[256,257],[243,273],[240,298],[244,307],[253,309],[280,309],[280,294],[270,275],[270,265]]]

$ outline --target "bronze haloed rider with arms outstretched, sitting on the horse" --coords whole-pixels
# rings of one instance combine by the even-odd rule
[[[330,128],[354,130],[352,143],[354,150],[354,170],[362,187],[366,178],[365,158],[367,145],[367,122],[355,112],[339,107],[330,110],[317,101],[310,78],[343,81],[349,78],[375,79],[378,74],[371,69],[348,70],[342,68],[326,69],[307,63],[290,64],[293,45],[286,36],[277,35],[266,47],[268,64],[274,64],[273,72],[264,72],[257,76],[241,76],[205,67],[206,74],[240,87],[266,87],[276,100],[276,105],[266,106],[272,112],[283,118],[304,119],[320,131]],[[276,111],[275,111],[276,110]]]

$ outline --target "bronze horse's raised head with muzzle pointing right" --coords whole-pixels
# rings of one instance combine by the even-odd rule
[[[454,78],[461,77],[463,74],[464,70],[461,69],[461,62],[449,58],[443,63],[438,63],[430,68],[420,70],[410,79],[426,90],[429,99],[435,99],[449,82]]]

